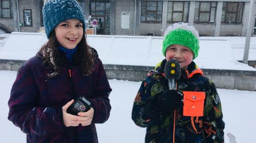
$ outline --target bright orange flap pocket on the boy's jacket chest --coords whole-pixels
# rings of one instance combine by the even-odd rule
[[[205,93],[183,91],[183,94],[183,116],[203,116]]]

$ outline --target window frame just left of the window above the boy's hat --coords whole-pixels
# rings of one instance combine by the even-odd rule
[[[140,22],[142,23],[161,23],[162,22],[162,16],[163,16],[163,1],[141,1],[142,2],[145,2],[146,5],[145,5],[145,21],[141,21],[141,15],[142,13],[140,13]],[[156,10],[147,10],[147,2],[156,2]],[[161,21],[158,21],[158,3],[162,3],[162,9],[161,9]],[[142,5],[141,5],[142,6]],[[141,6],[140,6],[140,9],[141,9]],[[147,12],[154,12],[156,14],[156,20],[155,21],[152,21],[152,20],[147,20]]]

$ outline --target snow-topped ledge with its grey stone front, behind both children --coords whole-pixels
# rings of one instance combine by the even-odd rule
[[[141,81],[164,59],[163,37],[88,35],[87,39],[98,51],[109,79]],[[13,32],[0,48],[0,70],[17,70],[47,40],[44,33]],[[228,38],[201,37],[194,61],[217,88],[255,91],[256,69],[233,59]]]

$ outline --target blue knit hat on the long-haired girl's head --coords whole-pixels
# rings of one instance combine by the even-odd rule
[[[78,19],[82,22],[83,30],[86,29],[82,8],[76,0],[49,0],[42,8],[44,26],[49,39],[54,28],[67,19]]]

